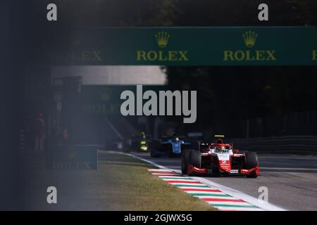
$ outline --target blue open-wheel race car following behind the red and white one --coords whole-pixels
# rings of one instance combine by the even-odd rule
[[[163,136],[161,140],[152,141],[150,155],[153,158],[167,155],[168,157],[180,156],[182,148],[189,146],[184,138],[179,136]]]

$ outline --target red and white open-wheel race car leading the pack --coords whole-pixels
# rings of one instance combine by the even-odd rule
[[[223,143],[223,135],[215,135],[215,143],[198,143],[198,149],[182,150],[182,174],[240,174],[259,176],[258,155],[234,150],[231,143]]]

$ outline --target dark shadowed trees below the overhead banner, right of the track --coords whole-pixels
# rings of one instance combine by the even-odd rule
[[[317,110],[316,68],[168,67],[166,73],[168,88],[197,90],[206,123]]]

